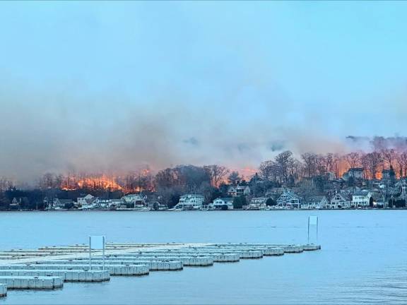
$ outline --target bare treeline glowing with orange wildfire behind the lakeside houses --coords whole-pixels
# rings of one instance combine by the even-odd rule
[[[126,193],[153,194],[160,203],[175,205],[184,193],[199,193],[211,202],[228,196],[228,186],[247,184],[253,196],[263,196],[274,186],[300,187],[304,193],[322,193],[326,177],[341,177],[349,168],[363,169],[365,179],[379,179],[383,169],[393,169],[396,177],[407,176],[407,151],[383,148],[372,152],[316,154],[305,152],[295,156],[290,150],[279,153],[273,160],[261,162],[253,177],[241,177],[221,165],[178,165],[152,174],[148,169],[129,172],[122,176],[106,174],[66,175],[44,174],[34,191],[21,190],[7,179],[0,179],[0,208],[18,198],[27,208],[42,208],[43,198],[71,198],[85,193],[104,198],[120,198]],[[309,183],[309,180],[312,183]],[[261,183],[259,183],[261,182]]]

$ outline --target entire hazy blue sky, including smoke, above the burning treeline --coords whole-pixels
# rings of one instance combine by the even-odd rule
[[[0,176],[405,135],[407,2],[0,3]]]

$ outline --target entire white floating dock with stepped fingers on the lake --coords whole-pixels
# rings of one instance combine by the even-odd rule
[[[317,251],[314,244],[137,244],[107,243],[102,251],[88,245],[48,246],[0,251],[0,297],[7,289],[56,289],[64,282],[104,282],[112,276],[148,275],[151,271],[237,263],[242,259]]]

